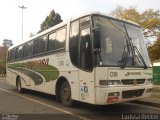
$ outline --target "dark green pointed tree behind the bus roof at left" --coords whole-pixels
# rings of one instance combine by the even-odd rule
[[[42,32],[52,26],[55,26],[62,22],[63,20],[61,19],[61,16],[59,13],[55,13],[54,10],[50,12],[50,14],[45,18],[45,20],[41,24],[41,30],[38,32]]]

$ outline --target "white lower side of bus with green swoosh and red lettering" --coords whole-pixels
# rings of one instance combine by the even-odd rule
[[[16,78],[20,76],[23,88],[55,95],[57,80],[64,77],[70,84],[72,99],[79,101],[78,68],[72,65],[69,52],[53,53],[9,65],[14,66],[7,69],[9,84],[16,86]]]

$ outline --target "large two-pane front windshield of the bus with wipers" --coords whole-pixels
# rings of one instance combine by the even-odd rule
[[[151,67],[140,27],[101,16],[93,21],[100,30],[98,66]]]

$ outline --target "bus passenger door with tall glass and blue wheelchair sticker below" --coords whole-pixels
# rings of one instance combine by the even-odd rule
[[[89,27],[81,28],[79,45],[80,101],[94,103],[94,72]]]

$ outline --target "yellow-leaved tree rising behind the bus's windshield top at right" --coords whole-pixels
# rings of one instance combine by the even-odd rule
[[[157,37],[160,35],[159,10],[147,9],[143,13],[139,13],[136,8],[123,8],[118,6],[111,12],[116,18],[131,20],[138,23],[142,27],[145,38]]]

